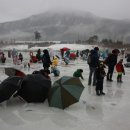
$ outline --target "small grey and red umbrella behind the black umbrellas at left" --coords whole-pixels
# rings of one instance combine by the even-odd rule
[[[21,77],[25,76],[24,72],[11,67],[5,68],[5,74],[8,76],[21,76]]]

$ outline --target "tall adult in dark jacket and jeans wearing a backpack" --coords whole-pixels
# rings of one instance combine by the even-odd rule
[[[92,83],[92,76],[93,76],[93,86],[96,85],[96,75],[95,70],[96,67],[99,65],[99,48],[95,47],[94,50],[90,51],[88,56],[88,65],[89,65],[89,78],[88,78],[88,85]]]

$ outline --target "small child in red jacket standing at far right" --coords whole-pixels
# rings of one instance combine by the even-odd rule
[[[125,75],[125,70],[122,63],[123,63],[123,59],[120,59],[120,61],[116,64],[116,71],[118,73],[117,82],[122,82],[122,73]]]

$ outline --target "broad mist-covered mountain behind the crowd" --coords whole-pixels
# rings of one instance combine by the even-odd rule
[[[100,39],[130,40],[130,21],[97,17],[82,11],[47,11],[31,17],[0,23],[0,40],[33,40],[39,31],[42,40],[85,40],[93,35]]]

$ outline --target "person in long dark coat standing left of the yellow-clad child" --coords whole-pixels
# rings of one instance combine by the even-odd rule
[[[44,70],[48,70],[50,65],[52,64],[50,60],[50,55],[47,49],[43,50],[42,63]]]

